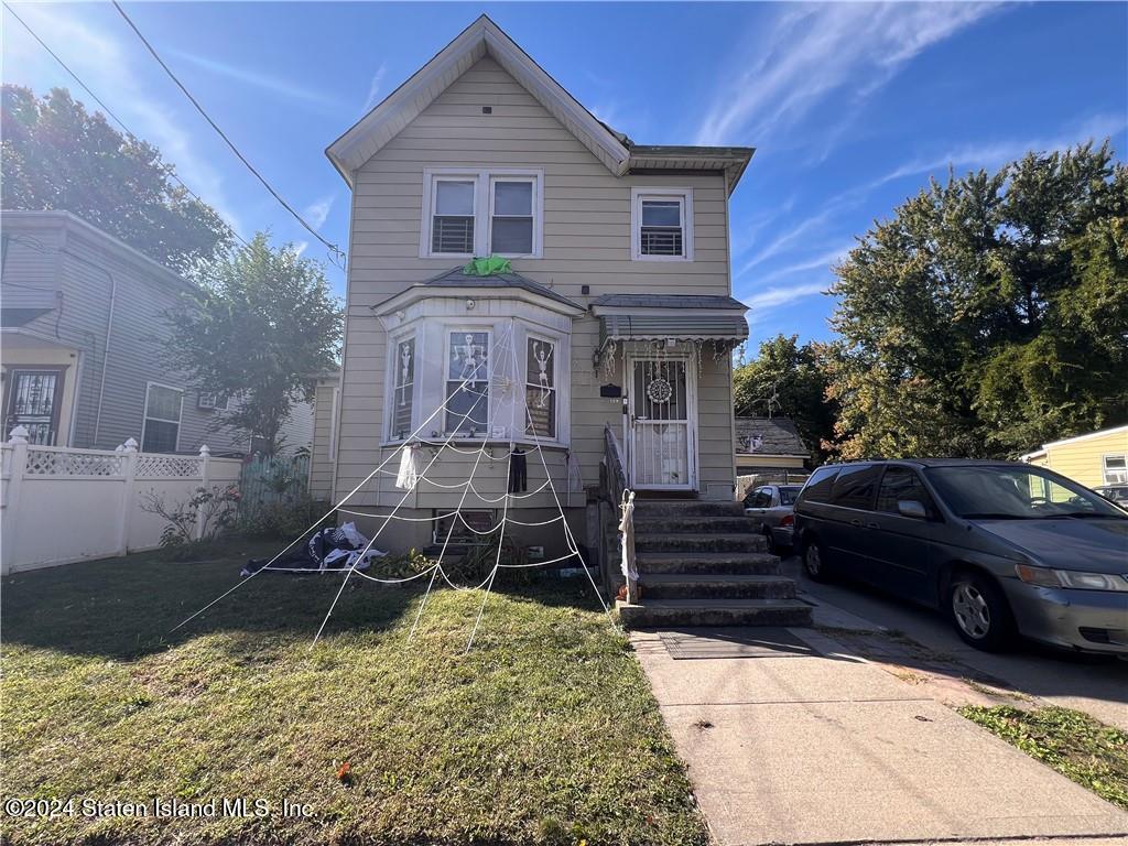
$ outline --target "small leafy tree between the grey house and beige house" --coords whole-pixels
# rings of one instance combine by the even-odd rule
[[[167,316],[169,367],[200,390],[230,397],[219,426],[274,452],[296,400],[312,399],[314,376],[334,368],[343,317],[321,266],[259,232],[247,247],[204,265],[201,290]]]

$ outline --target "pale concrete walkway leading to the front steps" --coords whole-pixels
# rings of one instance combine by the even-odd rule
[[[1128,814],[814,629],[632,640],[721,846],[1128,844]]]

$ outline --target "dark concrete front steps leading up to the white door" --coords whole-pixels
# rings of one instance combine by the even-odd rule
[[[617,603],[625,626],[811,624],[741,503],[636,500],[634,528],[640,600]]]

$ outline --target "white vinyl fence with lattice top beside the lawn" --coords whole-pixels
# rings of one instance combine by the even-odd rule
[[[0,444],[5,574],[153,549],[166,523],[141,510],[149,494],[187,502],[197,488],[238,484],[243,466],[208,447],[199,456],[138,452],[132,438],[116,450],[38,447],[21,430]]]

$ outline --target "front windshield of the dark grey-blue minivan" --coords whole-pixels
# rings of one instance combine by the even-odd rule
[[[1128,519],[1092,491],[1038,467],[929,467],[925,473],[948,506],[969,520]]]

